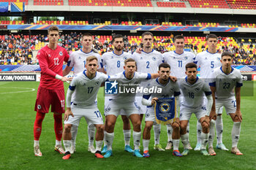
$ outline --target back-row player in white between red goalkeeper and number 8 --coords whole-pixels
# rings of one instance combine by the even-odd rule
[[[86,33],[82,36],[82,45],[83,48],[81,50],[75,51],[70,55],[69,61],[67,62],[67,67],[64,69],[63,74],[68,74],[71,69],[74,67],[74,75],[77,75],[80,72],[83,72],[86,69],[86,58],[89,56],[95,56],[98,61],[99,69],[102,69],[101,58],[98,53],[95,53],[92,49],[92,41],[93,37],[91,34]],[[72,100],[74,100],[76,92],[72,94]],[[79,125],[80,122],[78,122]],[[71,135],[71,149],[70,152],[74,153],[75,151],[75,139],[78,134],[78,126],[72,125]],[[88,151],[94,153],[94,135],[95,135],[95,126],[94,124],[88,124],[88,139],[89,139],[89,147]]]

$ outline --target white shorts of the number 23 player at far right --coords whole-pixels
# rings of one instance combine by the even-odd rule
[[[236,112],[236,98],[233,96],[232,98],[219,99],[217,98],[215,101],[215,108],[218,110],[219,108],[225,107],[227,115],[230,113]]]

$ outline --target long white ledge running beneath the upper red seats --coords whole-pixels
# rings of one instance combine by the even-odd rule
[[[167,8],[167,7],[106,7],[106,6],[38,6],[27,5],[26,11],[67,11],[67,12],[156,12],[156,13],[198,13],[227,15],[256,15],[252,9],[211,9],[211,8]]]

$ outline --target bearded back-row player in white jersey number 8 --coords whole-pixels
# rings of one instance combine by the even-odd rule
[[[117,34],[113,36],[113,46],[112,52],[104,53],[102,55],[102,64],[105,66],[108,75],[114,75],[119,72],[124,71],[124,61],[127,58],[132,58],[132,55],[124,52],[124,36]],[[105,96],[105,111],[109,103],[108,96]],[[123,132],[124,132],[124,150],[127,152],[133,152],[132,148],[129,146],[131,138],[131,125],[129,119],[126,115],[121,115],[123,120]],[[105,120],[105,127],[108,124]],[[105,146],[103,147],[102,153],[107,152],[106,141],[104,141]]]

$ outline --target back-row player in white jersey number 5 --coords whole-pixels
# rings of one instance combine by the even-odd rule
[[[208,50],[203,51],[202,53],[198,53],[195,57],[195,63],[197,66],[200,66],[200,77],[202,77],[207,83],[209,82],[209,78],[211,77],[211,71],[215,68],[222,66],[220,62],[220,54],[217,52],[217,44],[218,38],[215,34],[209,34],[206,36],[206,42],[208,45]],[[205,98],[205,102],[206,98]],[[217,149],[227,150],[225,145],[222,143],[222,132],[223,132],[223,123],[222,123],[222,107],[217,110],[217,120],[216,120],[216,131],[217,131]],[[214,131],[215,120],[211,120],[210,125],[210,136],[209,136],[209,153],[211,155],[216,155],[214,152]],[[197,122],[197,146],[195,150],[200,150],[200,132],[202,131],[202,127],[200,123]]]

